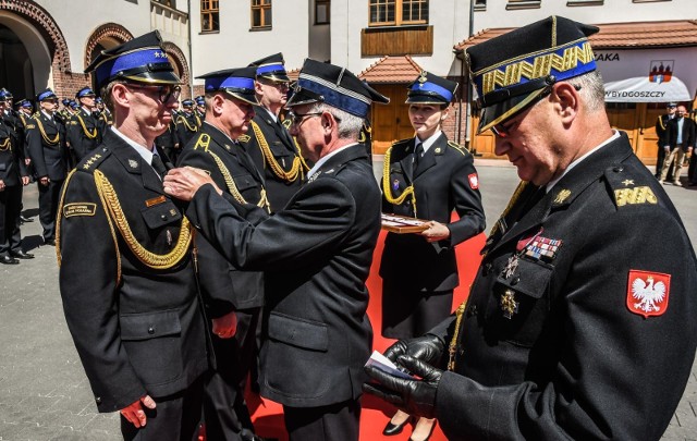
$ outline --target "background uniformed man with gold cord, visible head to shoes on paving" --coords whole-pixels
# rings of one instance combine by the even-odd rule
[[[56,245],[56,213],[60,189],[68,175],[65,126],[56,117],[58,97],[53,90],[44,90],[36,101],[39,103],[39,111],[30,124],[27,124],[26,136],[29,157],[38,179],[39,220],[44,228],[44,243],[52,246]]]

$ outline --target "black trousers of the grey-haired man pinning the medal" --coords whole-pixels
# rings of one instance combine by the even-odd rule
[[[290,441],[357,441],[360,403],[350,400],[321,407],[283,406]]]

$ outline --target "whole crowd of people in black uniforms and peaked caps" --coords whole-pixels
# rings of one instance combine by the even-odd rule
[[[522,184],[455,314],[454,247],[485,229],[473,157],[441,126],[455,82],[409,84],[415,136],[376,183],[366,120],[388,99],[353,73],[306,60],[291,87],[276,53],[180,102],[157,33],[102,51],[60,108],[0,90],[0,262],[33,258],[35,181],[69,329],[124,439],[259,440],[249,380],[291,440],[357,440],[364,390],[400,409],[383,434],[418,421],[414,441],[437,420],[450,439],[657,439],[695,353],[695,255],[607,122],[596,30],[550,17],[468,49],[479,128]],[[381,212],[423,221],[380,264],[386,355],[415,377],[364,370]],[[657,225],[671,248],[635,249]]]

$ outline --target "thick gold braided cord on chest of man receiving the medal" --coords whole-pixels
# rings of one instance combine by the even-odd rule
[[[119,203],[119,196],[111,186],[111,183],[105,176],[105,174],[95,170],[95,183],[97,184],[97,192],[99,197],[102,198],[108,212],[113,218],[113,221],[124,238],[131,252],[140,260],[144,265],[152,269],[169,269],[179,264],[188,253],[188,246],[192,242],[192,225],[188,223],[186,217],[182,218],[182,225],[180,228],[179,238],[174,248],[166,255],[157,255],[151,253],[135,238],[129,221],[123,215],[121,204]]]

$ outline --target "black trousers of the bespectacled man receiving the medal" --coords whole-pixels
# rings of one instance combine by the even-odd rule
[[[136,428],[121,415],[121,434],[126,441],[198,441],[200,409],[204,397],[204,377],[187,389],[170,396],[152,397],[154,409],[143,406],[147,422]],[[213,441],[213,438],[209,438]]]

